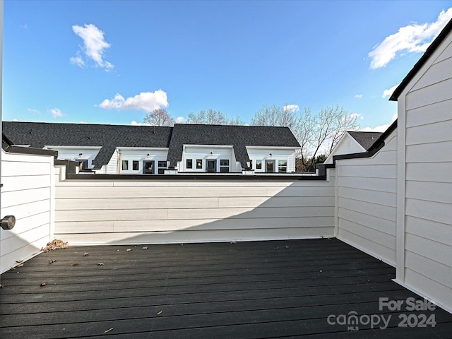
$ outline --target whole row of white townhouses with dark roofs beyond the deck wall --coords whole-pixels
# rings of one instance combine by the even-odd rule
[[[4,122],[16,145],[57,150],[98,174],[295,172],[299,143],[287,127],[174,127]]]

